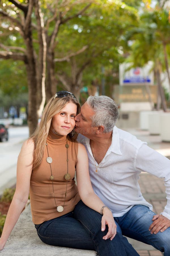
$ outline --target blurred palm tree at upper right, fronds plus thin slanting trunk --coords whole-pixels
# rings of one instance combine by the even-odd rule
[[[150,60],[153,61],[153,69],[158,83],[158,95],[161,97],[163,110],[166,111],[165,95],[160,74],[165,69],[168,73],[168,53],[166,48],[169,47],[170,44],[170,24],[166,22],[166,10],[162,10],[162,13],[158,11],[147,11],[143,13],[139,26],[132,28],[127,33],[126,39],[127,41],[132,40],[133,42],[131,55],[128,59],[134,63],[133,65],[135,67],[143,66]],[[165,28],[163,28],[163,26],[165,26]]]

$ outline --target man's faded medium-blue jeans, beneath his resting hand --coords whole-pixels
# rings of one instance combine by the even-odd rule
[[[164,252],[163,255],[169,256],[170,228],[157,234],[150,234],[148,230],[155,214],[145,205],[135,205],[123,216],[114,217],[117,232],[143,243],[150,244]]]

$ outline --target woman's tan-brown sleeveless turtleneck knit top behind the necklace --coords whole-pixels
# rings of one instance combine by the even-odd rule
[[[67,173],[67,151],[66,151],[66,136],[59,136],[49,131],[47,137],[47,146],[49,156],[52,157],[52,175],[54,176],[54,196],[53,196],[52,181],[50,180],[51,170],[50,164],[46,162],[48,156],[45,146],[44,157],[41,165],[37,170],[33,170],[30,180],[30,200],[31,212],[34,224],[41,224],[46,220],[51,220],[71,212],[75,205],[80,200],[78,189],[75,184],[75,167],[77,162],[78,143],[71,141],[68,137],[68,173],[71,175],[67,181],[64,175]],[[65,191],[67,184],[67,196],[65,199]],[[63,212],[58,212],[56,205],[65,206]]]

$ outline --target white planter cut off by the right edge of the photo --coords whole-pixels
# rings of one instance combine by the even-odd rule
[[[170,112],[160,114],[160,129],[162,141],[170,141]]]

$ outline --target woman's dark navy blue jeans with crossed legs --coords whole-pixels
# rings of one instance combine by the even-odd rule
[[[102,239],[108,228],[101,231],[101,217],[101,214],[80,201],[73,212],[35,227],[39,238],[50,245],[94,250],[99,256],[139,256],[120,233],[112,241]]]

